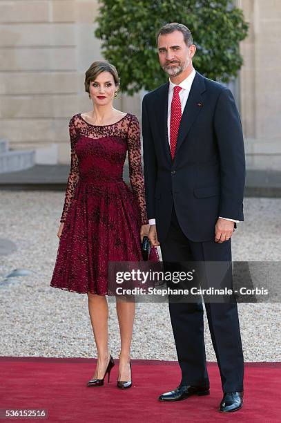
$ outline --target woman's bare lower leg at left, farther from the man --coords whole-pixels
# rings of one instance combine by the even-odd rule
[[[97,346],[97,367],[93,379],[102,379],[108,366],[108,303],[104,295],[88,292],[88,308]]]

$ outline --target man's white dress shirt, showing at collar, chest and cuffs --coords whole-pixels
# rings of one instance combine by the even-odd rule
[[[180,95],[180,104],[182,106],[182,113],[184,111],[184,107],[186,106],[186,102],[188,99],[188,95],[191,91],[191,86],[193,83],[193,79],[195,78],[196,71],[193,68],[193,71],[186,79],[184,79],[179,86],[182,88],[179,95]],[[167,129],[168,129],[168,142],[170,144],[170,122],[171,122],[171,104],[172,104],[172,98],[173,98],[173,90],[174,90],[175,84],[171,82],[171,79],[169,79],[169,88],[168,88],[168,121],[167,121]],[[221,219],[225,220],[231,220],[231,222],[238,223],[240,220],[234,220],[229,218],[223,218],[219,216]],[[149,225],[155,225],[155,219],[149,219],[148,220]]]

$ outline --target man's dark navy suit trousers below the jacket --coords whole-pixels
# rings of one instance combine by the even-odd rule
[[[177,221],[175,207],[171,226],[161,243],[163,261],[231,261],[231,240],[224,243],[189,240]],[[205,303],[209,330],[224,393],[243,391],[244,359],[238,308],[232,303]],[[204,344],[202,302],[171,302],[169,311],[177,358],[182,370],[181,386],[209,386]]]

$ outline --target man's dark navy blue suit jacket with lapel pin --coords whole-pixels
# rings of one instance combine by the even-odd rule
[[[142,103],[144,181],[148,218],[166,238],[173,203],[192,241],[211,241],[219,216],[243,220],[245,156],[242,126],[231,91],[196,72],[177,136],[168,144],[168,82]]]

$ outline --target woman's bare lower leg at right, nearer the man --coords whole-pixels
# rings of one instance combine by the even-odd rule
[[[116,310],[120,328],[121,351],[119,355],[118,380],[126,382],[130,380],[130,344],[133,335],[133,323],[135,317],[135,302],[116,299]]]

